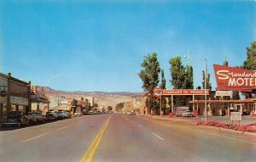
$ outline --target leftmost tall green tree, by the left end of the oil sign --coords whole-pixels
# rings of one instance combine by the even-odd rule
[[[143,90],[144,92],[148,92],[148,94],[153,94],[154,88],[159,84],[160,64],[157,60],[157,54],[152,53],[145,56],[141,66],[143,70],[141,70],[138,75],[143,81]],[[154,97],[151,98],[149,95],[148,97],[149,108],[157,108]],[[148,105],[148,103],[146,103],[146,105]]]

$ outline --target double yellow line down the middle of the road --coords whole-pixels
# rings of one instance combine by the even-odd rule
[[[102,129],[98,132],[97,136],[95,137],[93,142],[90,144],[90,148],[87,149],[87,151],[85,152],[85,154],[84,154],[83,158],[80,160],[80,162],[84,162],[86,159],[88,159],[87,161],[90,162],[93,159],[93,156],[96,153],[96,149],[98,148],[98,146],[102,140],[102,136],[103,136],[106,128],[108,127],[110,118],[111,118],[111,116],[109,116],[108,120],[106,120],[106,122],[102,126]]]

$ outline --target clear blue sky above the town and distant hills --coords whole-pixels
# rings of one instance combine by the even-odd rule
[[[137,73],[154,52],[168,89],[169,59],[184,54],[195,87],[205,59],[216,87],[212,64],[226,55],[230,66],[241,65],[253,41],[253,0],[0,2],[0,72],[56,90],[143,92]]]

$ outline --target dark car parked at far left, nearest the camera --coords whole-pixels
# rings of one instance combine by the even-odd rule
[[[22,111],[11,111],[8,115],[3,116],[3,126],[28,126],[26,115]]]

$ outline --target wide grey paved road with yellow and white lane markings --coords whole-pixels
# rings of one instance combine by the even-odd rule
[[[93,115],[0,132],[0,161],[255,161],[256,137],[143,116]]]

